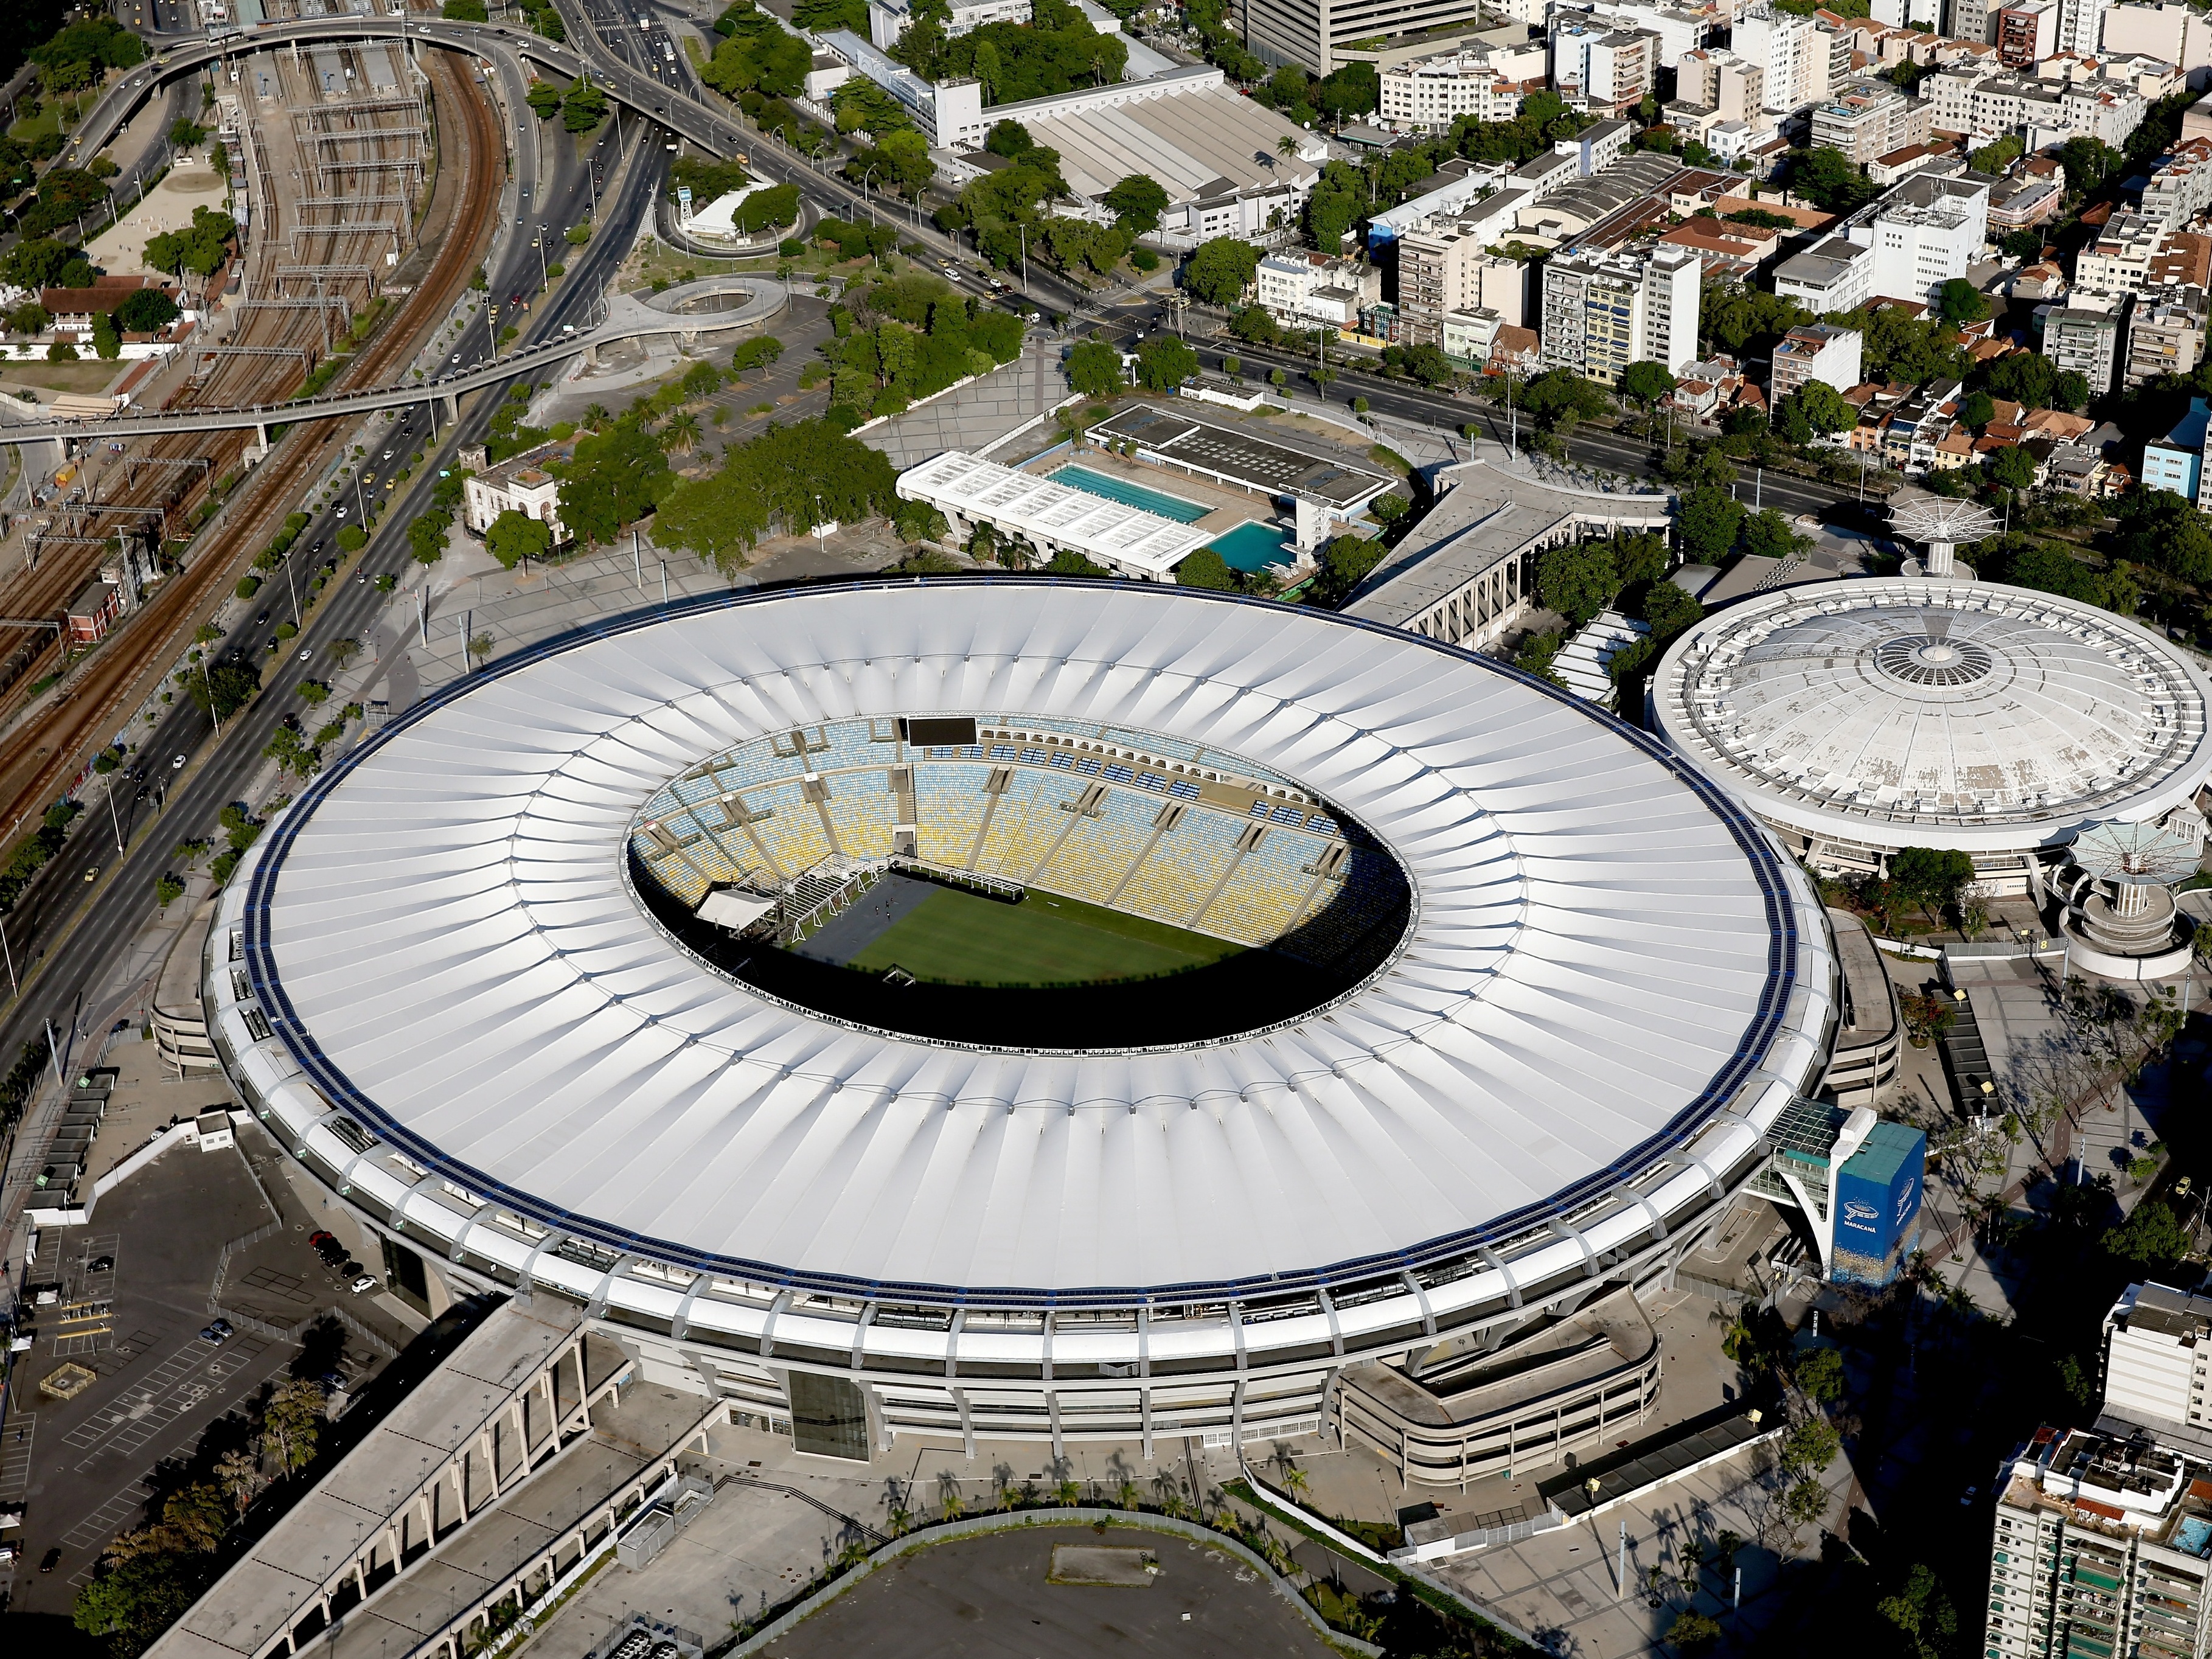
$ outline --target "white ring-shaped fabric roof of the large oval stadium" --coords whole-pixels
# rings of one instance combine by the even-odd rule
[[[1402,860],[1407,938],[1263,1033],[1053,1053],[770,1000],[633,894],[639,810],[703,757],[967,712],[1303,781]],[[1809,883],[1661,745],[1447,646],[1148,584],[730,597],[524,653],[316,779],[219,929],[241,960],[208,1013],[248,1097],[425,1237],[489,1201],[611,1252],[916,1296],[1296,1285],[1546,1225],[1546,1259],[1595,1272],[1816,1086],[1834,1006]]]

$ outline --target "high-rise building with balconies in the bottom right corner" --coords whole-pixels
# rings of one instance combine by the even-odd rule
[[[2212,1482],[2148,1433],[2037,1429],[1997,1484],[1984,1652],[2194,1659]]]

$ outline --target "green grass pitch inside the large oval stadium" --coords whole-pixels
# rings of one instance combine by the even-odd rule
[[[1206,967],[1245,947],[1031,891],[1020,905],[940,887],[852,967],[945,984],[1097,984]]]

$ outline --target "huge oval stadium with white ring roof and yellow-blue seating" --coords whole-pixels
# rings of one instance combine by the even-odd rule
[[[1632,1307],[1838,1004],[1765,830],[1555,688],[1004,577],[458,681],[272,816],[204,995],[387,1261],[845,1458],[1312,1433]],[[1630,1369],[1553,1449],[1648,1409]]]

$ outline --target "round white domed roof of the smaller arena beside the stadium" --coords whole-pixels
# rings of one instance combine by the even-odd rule
[[[2110,611],[1922,577],[1732,604],[1652,677],[1668,743],[1770,823],[1991,854],[2188,801],[2205,703],[2188,657]]]

